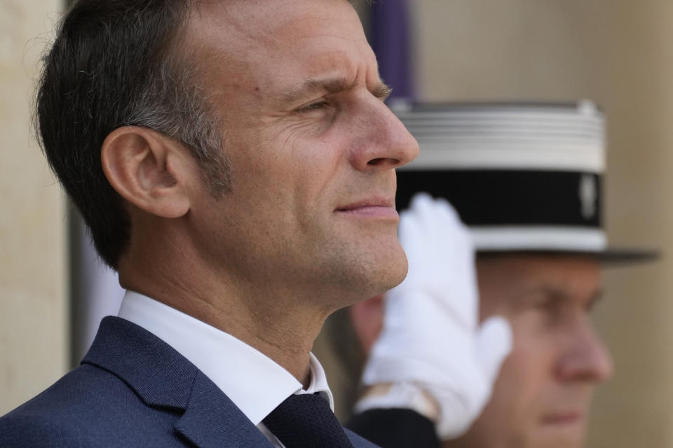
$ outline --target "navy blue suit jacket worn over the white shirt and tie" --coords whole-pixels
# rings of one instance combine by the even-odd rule
[[[376,447],[346,433],[357,448]],[[0,418],[0,447],[272,444],[175,349],[138,325],[107,317],[79,367]]]

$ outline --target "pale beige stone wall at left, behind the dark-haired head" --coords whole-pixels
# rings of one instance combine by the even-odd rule
[[[0,415],[67,365],[66,201],[29,132],[57,0],[0,0]]]

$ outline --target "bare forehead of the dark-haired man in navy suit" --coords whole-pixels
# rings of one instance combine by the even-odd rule
[[[187,23],[186,45],[211,69],[226,64],[231,72],[264,78],[273,66],[311,76],[358,58],[375,63],[346,0],[203,1]]]

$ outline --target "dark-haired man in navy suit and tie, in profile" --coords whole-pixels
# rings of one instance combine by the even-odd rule
[[[373,446],[311,438],[332,396],[310,351],[407,272],[394,169],[418,146],[387,94],[346,0],[77,1],[37,125],[128,293],[0,446]],[[327,413],[287,438],[301,395]]]

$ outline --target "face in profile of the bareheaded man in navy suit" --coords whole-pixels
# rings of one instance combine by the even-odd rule
[[[185,45],[231,161],[231,192],[193,208],[214,274],[276,295],[306,285],[329,311],[400,283],[394,168],[418,147],[383,104],[355,10],[346,0],[199,9]]]

